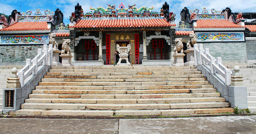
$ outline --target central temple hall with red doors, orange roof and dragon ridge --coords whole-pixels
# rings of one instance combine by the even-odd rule
[[[170,46],[175,44],[171,35],[176,25],[169,5],[163,4],[160,12],[135,4],[118,7],[90,8],[93,12],[83,13],[79,4],[75,6],[69,25],[75,66],[116,64],[117,44],[130,44],[128,60],[132,64],[171,65]]]

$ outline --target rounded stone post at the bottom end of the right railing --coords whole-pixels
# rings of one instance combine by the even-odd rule
[[[231,75],[230,86],[244,86],[243,75],[239,74],[240,67],[234,66],[234,74]]]

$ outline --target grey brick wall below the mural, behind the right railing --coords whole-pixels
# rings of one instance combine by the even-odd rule
[[[223,64],[247,63],[245,42],[208,42],[203,47],[209,48],[213,57],[221,57]]]

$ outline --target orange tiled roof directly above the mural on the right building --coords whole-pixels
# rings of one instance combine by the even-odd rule
[[[194,28],[244,28],[228,20],[197,20]]]

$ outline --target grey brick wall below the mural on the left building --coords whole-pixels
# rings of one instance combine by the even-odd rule
[[[25,65],[27,58],[34,58],[42,45],[0,45],[0,65]]]

